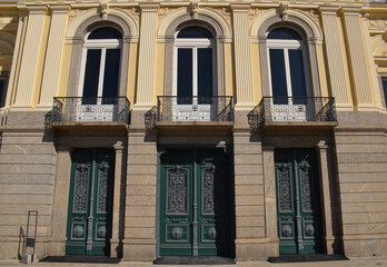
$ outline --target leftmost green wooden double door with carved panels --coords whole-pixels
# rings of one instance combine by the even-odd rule
[[[113,150],[72,155],[67,255],[110,255]]]

